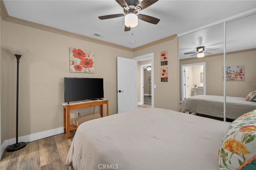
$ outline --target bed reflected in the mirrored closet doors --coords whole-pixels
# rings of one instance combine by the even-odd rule
[[[181,112],[200,113],[223,118],[223,96],[197,95],[184,99]],[[244,97],[226,97],[226,118],[236,119],[244,113],[256,109],[256,102],[246,101]]]

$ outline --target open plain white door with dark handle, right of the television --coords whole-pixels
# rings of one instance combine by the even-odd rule
[[[137,61],[117,57],[118,113],[137,109]]]

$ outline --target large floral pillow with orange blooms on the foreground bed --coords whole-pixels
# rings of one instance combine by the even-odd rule
[[[219,170],[256,170],[256,110],[228,126],[218,154]]]

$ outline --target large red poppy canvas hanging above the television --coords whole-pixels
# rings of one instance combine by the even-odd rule
[[[94,51],[70,47],[70,72],[94,73]]]

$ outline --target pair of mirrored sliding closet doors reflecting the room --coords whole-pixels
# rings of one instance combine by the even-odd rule
[[[240,97],[245,102],[246,95],[256,90],[256,75],[253,70],[256,65],[255,15],[226,22],[225,56],[224,23],[179,37],[181,112],[233,121],[256,109],[254,102],[250,102],[252,107],[248,108],[248,102],[241,104],[240,101],[238,104],[232,98]],[[198,56],[200,53],[204,57]],[[204,64],[203,71],[198,72],[193,67],[200,64]],[[235,81],[226,81],[224,70],[229,75],[236,72],[236,77],[230,77]]]

